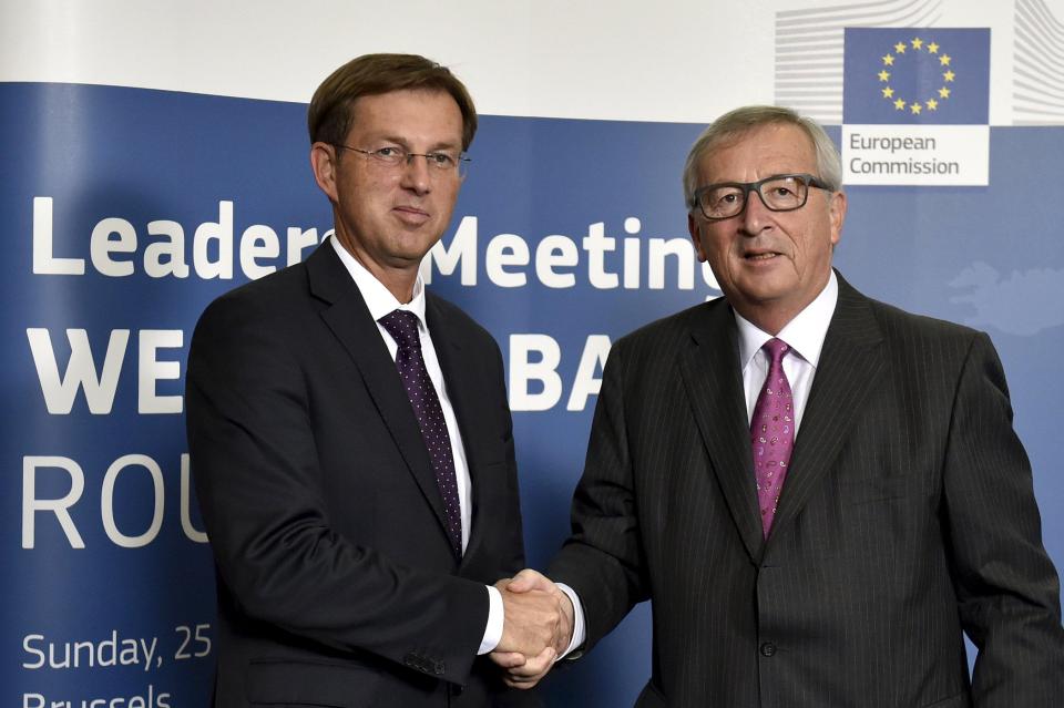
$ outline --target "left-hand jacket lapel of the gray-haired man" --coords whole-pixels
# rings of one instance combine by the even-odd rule
[[[690,407],[732,517],[750,557],[761,554],[763,534],[746,423],[735,317],[722,299],[698,308],[679,368]]]

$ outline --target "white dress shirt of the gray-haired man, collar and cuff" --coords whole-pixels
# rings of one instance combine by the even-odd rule
[[[835,315],[835,306],[839,300],[839,281],[831,271],[828,284],[820,290],[820,295],[812,302],[798,312],[792,320],[779,330],[777,339],[781,339],[792,349],[790,356],[784,357],[784,373],[790,383],[790,393],[795,402],[795,440],[797,441],[798,427],[801,415],[809,400],[812,389],[812,377],[820,362],[820,350],[823,348],[823,338],[828,334],[828,326]],[[768,356],[761,351],[765,342],[773,338],[768,332],[733,310],[735,324],[739,329],[739,366],[743,367],[743,391],[746,394],[746,422],[749,424],[754,415],[754,404],[768,376]],[[750,475],[753,479],[753,470]],[[562,586],[573,601],[576,622],[573,627],[573,640],[565,654],[581,646],[586,638],[584,629],[584,608],[580,598],[567,586]],[[564,656],[564,655],[563,655]]]

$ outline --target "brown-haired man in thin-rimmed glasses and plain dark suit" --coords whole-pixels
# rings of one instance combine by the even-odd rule
[[[499,348],[424,290],[477,129],[421,57],[338,69],[309,109],[335,236],[204,312],[188,441],[217,564],[219,708],[533,701],[480,657],[553,657],[524,563]]]

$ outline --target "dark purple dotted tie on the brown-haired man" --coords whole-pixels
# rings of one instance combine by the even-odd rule
[[[418,316],[407,310],[392,310],[379,320],[391,338],[399,345],[396,351],[396,367],[399,378],[407,389],[407,398],[418,417],[421,437],[429,450],[436,483],[443,497],[443,512],[447,516],[447,535],[456,557],[462,557],[462,510],[458,502],[458,482],[454,476],[454,455],[451,452],[451,439],[447,432],[447,421],[440,399],[432,387],[429,370],[421,356],[421,338],[418,337]]]

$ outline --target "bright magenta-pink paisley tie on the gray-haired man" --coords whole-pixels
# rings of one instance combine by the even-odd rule
[[[757,480],[757,505],[761,510],[765,537],[773,527],[779,492],[795,447],[795,411],[790,383],[784,373],[784,356],[790,347],[779,339],[769,339],[761,347],[768,355],[768,376],[754,404],[750,418],[750,447],[754,451],[754,478]]]

